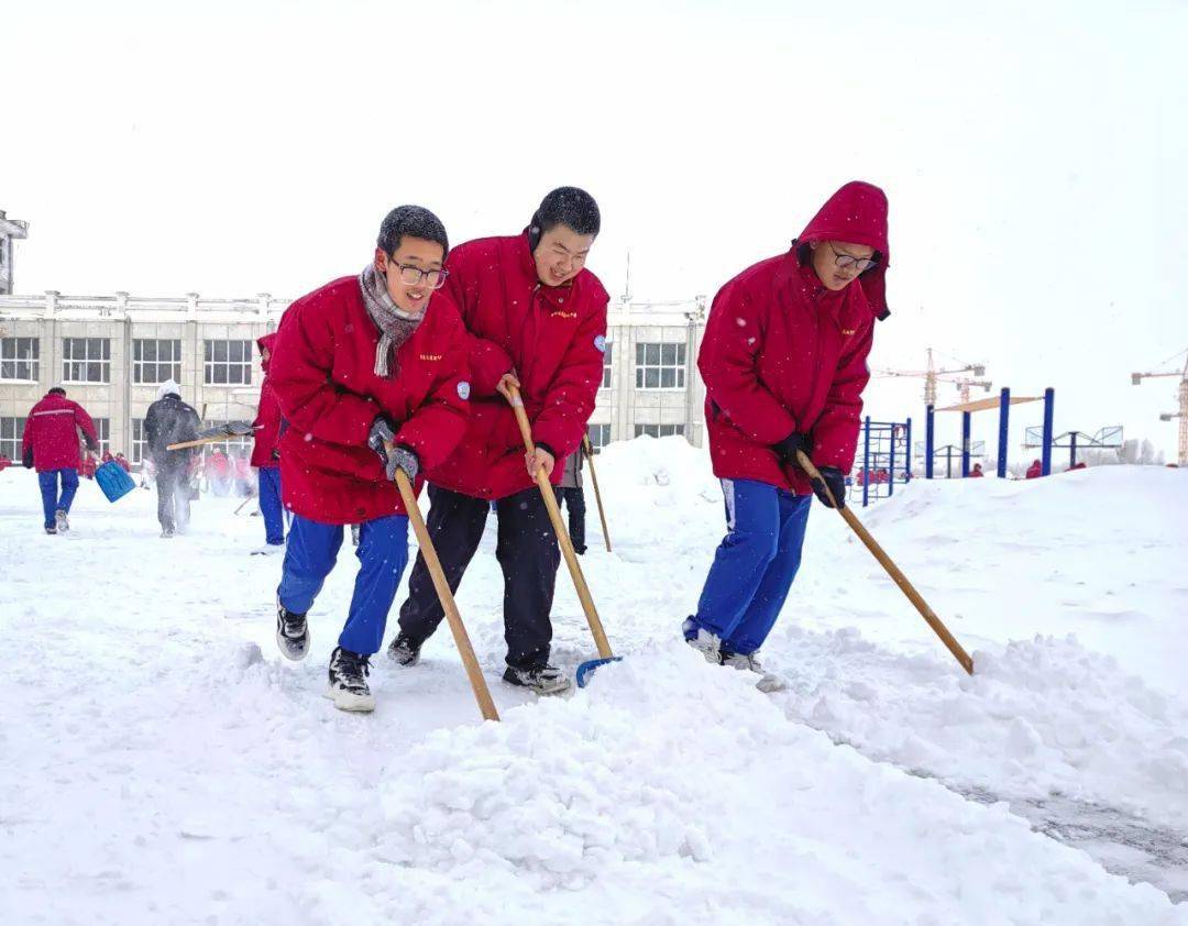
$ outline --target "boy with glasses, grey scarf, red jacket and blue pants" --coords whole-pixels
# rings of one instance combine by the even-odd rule
[[[466,330],[446,281],[449,243],[428,209],[402,205],[380,227],[373,262],[295,302],[280,321],[268,379],[286,430],[283,500],[293,513],[277,590],[277,643],[309,652],[307,614],[334,567],[343,525],[359,524],[360,567],[328,697],[375,706],[371,657],[409,558],[409,518],[394,484],[440,465],[466,429]]]

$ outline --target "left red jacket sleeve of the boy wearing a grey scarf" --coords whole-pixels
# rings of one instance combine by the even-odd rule
[[[367,433],[381,410],[374,400],[330,381],[334,330],[322,306],[316,302],[290,306],[276,344],[268,379],[289,424],[318,440],[366,445]]]

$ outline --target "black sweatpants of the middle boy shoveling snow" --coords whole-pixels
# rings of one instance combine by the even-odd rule
[[[488,510],[491,502],[486,499],[429,487],[426,526],[451,591],[457,591],[479,548]],[[552,642],[552,591],[561,565],[557,538],[536,487],[500,499],[495,503],[495,516],[499,519],[495,558],[504,571],[507,665],[538,668],[549,661]],[[425,558],[417,553],[409,576],[409,600],[400,608],[400,630],[419,645],[429,639],[444,616]]]

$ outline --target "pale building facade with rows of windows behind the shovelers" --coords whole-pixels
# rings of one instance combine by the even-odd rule
[[[252,420],[263,375],[255,340],[276,330],[290,302],[268,293],[0,296],[0,454],[20,458],[25,416],[53,386],[87,408],[103,450],[133,462],[144,455],[145,412],[165,380],[182,386],[208,426]],[[696,357],[704,315],[703,298],[611,306],[590,418],[595,446],[640,435],[682,435],[701,446],[704,386]]]

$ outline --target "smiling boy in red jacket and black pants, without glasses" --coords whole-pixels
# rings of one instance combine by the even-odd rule
[[[584,268],[600,222],[589,194],[563,186],[544,197],[522,234],[467,242],[447,264],[449,291],[469,332],[474,397],[462,443],[429,472],[429,531],[440,538],[437,554],[456,589],[495,502],[504,680],[542,694],[564,691],[569,681],[549,665],[561,553],[535,476],[543,469],[554,486],[561,482],[602,380],[609,297]],[[520,389],[532,424],[531,456],[507,401],[508,383]],[[418,556],[390,655],[416,664],[442,617]]]

